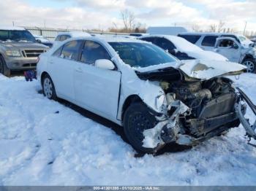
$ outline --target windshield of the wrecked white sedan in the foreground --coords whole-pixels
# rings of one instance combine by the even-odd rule
[[[109,44],[118,52],[124,63],[135,68],[177,61],[154,44],[138,42],[110,42]]]

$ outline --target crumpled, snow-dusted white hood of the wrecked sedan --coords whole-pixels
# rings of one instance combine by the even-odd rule
[[[166,68],[179,69],[188,77],[206,80],[213,77],[241,74],[246,69],[246,66],[228,61],[188,60],[178,63],[163,63],[145,68],[135,68],[135,71],[140,74],[150,74]],[[157,74],[161,75],[161,72],[157,72]]]

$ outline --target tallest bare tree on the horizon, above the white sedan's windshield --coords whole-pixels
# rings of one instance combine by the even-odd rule
[[[124,23],[124,28],[126,32],[131,32],[135,28],[135,15],[133,12],[130,12],[128,9],[121,11],[121,18]]]

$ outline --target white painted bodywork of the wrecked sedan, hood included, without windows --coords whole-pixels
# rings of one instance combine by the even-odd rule
[[[116,70],[101,69],[78,61],[70,61],[53,56],[53,53],[59,47],[73,40],[91,40],[101,44],[109,52],[110,60],[115,63]],[[159,82],[140,79],[135,71],[151,71],[173,67],[174,69],[181,69],[189,77],[203,80],[227,73],[232,74],[232,72],[237,74],[237,71],[243,71],[245,68],[240,64],[234,63],[236,67],[227,65],[223,69],[222,65],[225,63],[221,61],[216,66],[214,65],[215,62],[210,63],[208,66],[208,61],[188,63],[179,62],[176,59],[173,59],[174,62],[172,63],[163,63],[146,68],[132,68],[121,60],[118,52],[113,50],[113,47],[108,42],[149,44],[138,39],[127,38],[104,39],[88,36],[67,39],[61,42],[58,47],[53,47],[48,52],[40,55],[40,60],[37,64],[37,75],[38,79],[41,79],[43,72],[47,72],[50,75],[58,97],[67,99],[119,125],[122,125],[122,108],[130,95],[138,95],[149,108],[155,112],[163,113],[162,107],[159,106],[158,98],[162,95],[165,96],[165,92],[160,87]],[[195,73],[197,74],[195,75]]]

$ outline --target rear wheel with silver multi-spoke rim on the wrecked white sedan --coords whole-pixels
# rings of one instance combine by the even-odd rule
[[[57,100],[56,90],[53,80],[48,74],[42,77],[42,93],[49,99]]]

